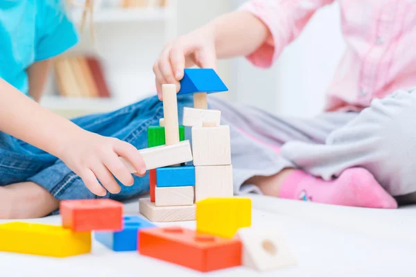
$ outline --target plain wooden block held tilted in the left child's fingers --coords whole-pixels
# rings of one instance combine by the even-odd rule
[[[146,169],[163,168],[164,166],[173,166],[178,163],[192,161],[191,145],[189,141],[181,141],[174,145],[162,145],[153,148],[139,150],[141,158],[146,163]],[[135,173],[131,163],[123,157],[119,157],[121,162],[131,173]]]

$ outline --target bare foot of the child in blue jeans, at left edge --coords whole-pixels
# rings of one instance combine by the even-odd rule
[[[57,208],[59,200],[33,182],[0,187],[1,220],[44,217]]]

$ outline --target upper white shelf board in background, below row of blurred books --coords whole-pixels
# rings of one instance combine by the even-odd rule
[[[73,10],[73,21],[80,23],[82,10]],[[94,23],[116,23],[135,21],[165,21],[170,12],[166,8],[102,8],[94,12]],[[87,19],[88,20],[88,19]]]

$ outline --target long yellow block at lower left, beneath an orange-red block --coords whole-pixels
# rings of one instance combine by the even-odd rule
[[[89,253],[91,232],[27,222],[0,224],[0,251],[59,258]]]

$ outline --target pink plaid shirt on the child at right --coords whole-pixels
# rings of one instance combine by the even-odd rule
[[[271,37],[248,56],[266,68],[333,0],[252,0]],[[374,98],[416,86],[416,0],[338,0],[346,50],[328,89],[328,111],[359,110]]]

